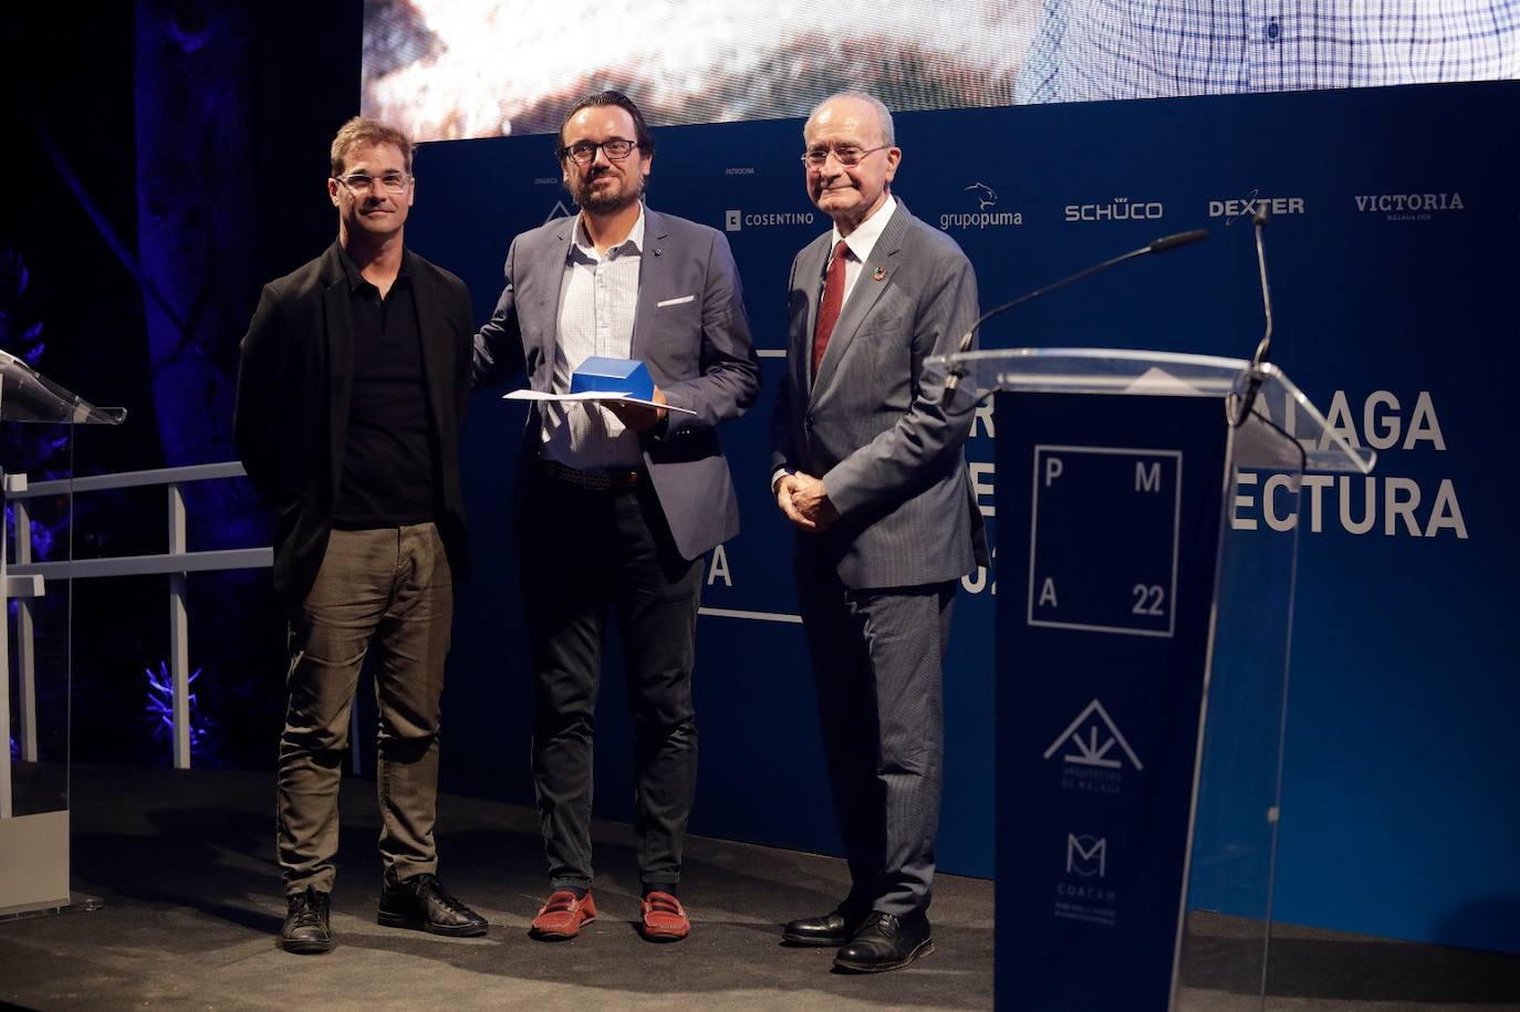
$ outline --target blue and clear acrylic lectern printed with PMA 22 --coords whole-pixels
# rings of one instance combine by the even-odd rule
[[[996,397],[997,1007],[1262,1007],[1300,492],[1373,453],[1271,365],[929,368]]]

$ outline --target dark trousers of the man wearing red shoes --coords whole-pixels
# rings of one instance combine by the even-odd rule
[[[676,552],[648,479],[587,491],[529,471],[518,511],[534,667],[534,784],[550,889],[591,883],[591,743],[611,611],[634,711],[638,871],[681,878],[696,793],[692,667],[702,561]]]

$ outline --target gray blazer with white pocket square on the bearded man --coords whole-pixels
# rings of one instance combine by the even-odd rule
[[[573,217],[555,219],[512,240],[502,298],[474,337],[477,384],[526,369],[532,389],[552,389],[559,292],[575,223]],[[693,298],[660,305],[684,296]],[[739,270],[722,232],[644,210],[632,357],[649,368],[666,400],[696,412],[670,412],[640,436],[676,549],[695,559],[739,533],[739,503],[716,425],[743,415],[760,391]],[[541,429],[535,406],[524,462],[537,456]]]

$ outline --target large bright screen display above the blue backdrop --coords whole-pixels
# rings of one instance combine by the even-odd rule
[[[1520,0],[365,0],[362,111],[416,140],[1520,76]]]

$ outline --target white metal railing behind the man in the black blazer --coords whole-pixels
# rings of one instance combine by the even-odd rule
[[[20,681],[20,735],[17,745],[23,760],[36,761],[36,655],[32,644],[32,599],[43,596],[47,580],[167,574],[173,760],[176,769],[190,769],[190,629],[185,620],[185,577],[190,573],[268,568],[274,565],[274,549],[185,552],[185,500],[181,489],[190,482],[243,477],[245,474],[240,462],[228,460],[225,463],[123,471],[120,474],[33,483],[27,483],[24,474],[6,476],[5,498],[15,511],[15,562],[8,564],[0,558],[0,567],[3,567],[0,571],[5,571],[8,577],[6,594],[17,599],[17,672]],[[167,486],[169,491],[169,550],[163,555],[129,555],[65,562],[32,561],[32,520],[26,500],[154,485]],[[3,635],[0,635],[0,643],[3,643]],[[8,696],[9,690],[0,691],[0,716],[5,716]],[[9,726],[9,720],[0,726]],[[6,749],[3,761],[9,766],[9,749]],[[0,776],[3,781],[0,787],[8,787],[9,780],[9,770],[5,770],[5,776]]]

